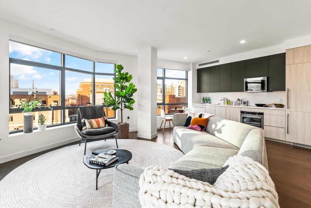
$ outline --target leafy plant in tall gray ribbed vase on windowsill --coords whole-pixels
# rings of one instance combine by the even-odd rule
[[[35,91],[33,94],[31,94],[30,98],[28,100],[22,100],[20,99],[20,104],[18,105],[18,108],[23,109],[22,113],[24,113],[24,126],[23,126],[23,132],[24,133],[31,133],[33,132],[33,115],[30,114],[30,112],[35,109],[41,107],[49,108],[50,106],[42,105],[42,101],[46,98],[36,98],[35,94],[38,91]],[[34,98],[33,98],[34,97]]]

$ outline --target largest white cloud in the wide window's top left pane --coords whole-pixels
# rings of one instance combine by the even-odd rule
[[[13,51],[17,51],[21,56],[27,56],[30,59],[38,59],[43,55],[45,50],[9,41],[9,52],[11,53]]]

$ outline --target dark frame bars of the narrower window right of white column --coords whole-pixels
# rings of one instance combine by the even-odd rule
[[[162,80],[162,102],[158,103],[157,105],[159,106],[163,106],[163,109],[165,111],[165,106],[166,105],[186,105],[186,108],[188,107],[188,71],[187,70],[180,70],[180,71],[184,71],[186,72],[186,78],[174,78],[174,77],[166,77],[165,76],[165,69],[166,68],[157,68],[158,69],[162,69],[162,75],[163,76],[157,76],[157,80]],[[167,69],[167,70],[176,70],[176,69]],[[165,103],[165,80],[184,80],[186,81],[186,86],[185,86],[185,103]],[[160,115],[160,114],[157,114]],[[165,115],[173,115],[173,113],[171,114],[165,114]]]

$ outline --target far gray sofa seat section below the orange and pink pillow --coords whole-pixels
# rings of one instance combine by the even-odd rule
[[[239,150],[239,148],[235,147],[234,145],[220,138],[217,138],[205,131],[194,131],[183,126],[176,126],[174,128],[174,141],[185,154],[198,146],[209,146]]]

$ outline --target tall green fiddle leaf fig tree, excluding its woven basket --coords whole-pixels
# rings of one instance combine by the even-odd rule
[[[116,99],[114,99],[111,92],[104,92],[103,98],[107,107],[111,107],[114,111],[121,110],[121,123],[123,123],[123,110],[133,110],[132,106],[135,100],[132,96],[137,91],[135,85],[131,82],[132,75],[128,74],[128,72],[122,72],[122,70],[122,65],[116,65],[116,69],[114,70],[116,73],[116,77],[113,78]]]

